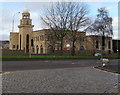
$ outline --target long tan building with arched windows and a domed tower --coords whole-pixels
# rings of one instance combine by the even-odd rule
[[[60,50],[60,42],[54,41],[50,29],[43,29],[33,31],[34,25],[32,25],[32,19],[30,19],[30,13],[24,11],[22,13],[22,19],[18,26],[19,32],[10,33],[10,50],[24,50],[25,53],[32,54],[50,54],[52,49]],[[84,53],[85,51],[100,51],[100,36],[86,36],[86,32],[78,32],[78,38],[75,42],[75,50],[77,53]],[[98,39],[95,40],[95,39]],[[105,51],[112,52],[112,38],[106,38],[109,41],[110,46],[105,47]],[[96,44],[97,43],[97,44]],[[106,42],[108,44],[108,42]],[[96,45],[96,47],[94,46]],[[109,47],[109,48],[108,48]],[[72,41],[70,36],[64,37],[63,50],[70,51],[72,48]]]

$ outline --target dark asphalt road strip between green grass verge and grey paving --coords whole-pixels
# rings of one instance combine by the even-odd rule
[[[37,61],[3,61],[2,71],[21,71],[38,69],[58,69],[73,67],[93,67],[100,65],[98,59],[91,60],[37,60]]]

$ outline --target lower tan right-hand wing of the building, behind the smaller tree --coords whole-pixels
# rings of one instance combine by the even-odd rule
[[[102,46],[102,38],[97,35],[88,35],[87,39],[87,49],[92,50],[94,52],[101,52]],[[111,54],[113,52],[112,47],[112,37],[105,37],[105,46],[104,51],[106,54]]]

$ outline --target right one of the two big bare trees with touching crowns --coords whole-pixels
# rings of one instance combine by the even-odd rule
[[[69,14],[69,30],[70,37],[72,41],[71,55],[75,55],[75,42],[79,38],[78,32],[80,29],[86,27],[89,23],[89,18],[87,17],[88,9],[83,3],[73,3],[70,6]]]

